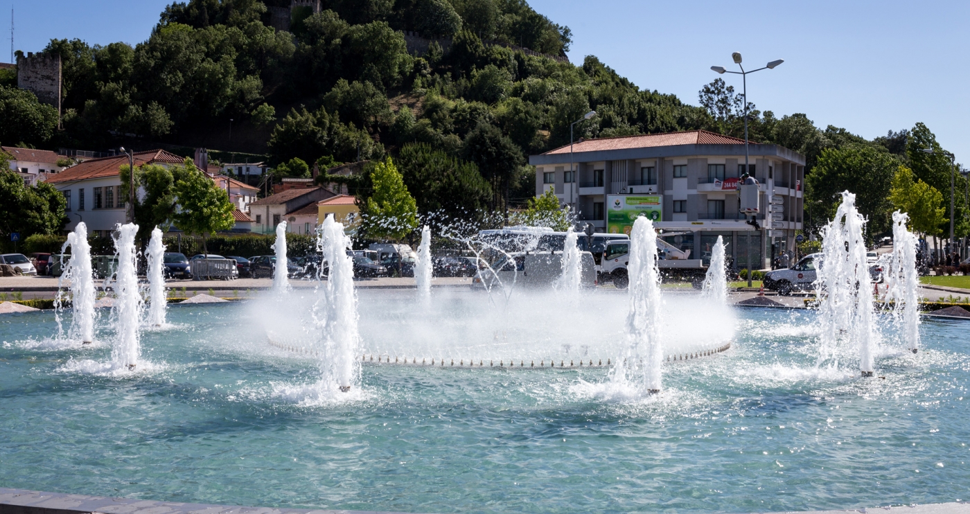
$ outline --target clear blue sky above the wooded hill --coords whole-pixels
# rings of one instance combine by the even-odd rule
[[[90,44],[146,40],[165,0],[4,0],[0,60],[10,58],[10,8],[16,48],[37,51],[51,38]],[[597,55],[641,88],[696,104],[697,90],[719,77],[740,51],[751,67],[785,64],[749,77],[748,94],[776,115],[804,112],[871,139],[922,121],[940,143],[970,162],[964,121],[970,3],[648,2],[531,0],[573,33],[569,58]],[[736,76],[723,76],[740,88]]]

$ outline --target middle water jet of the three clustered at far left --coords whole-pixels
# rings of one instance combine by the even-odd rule
[[[138,342],[139,313],[142,295],[138,290],[137,250],[135,236],[138,225],[127,223],[118,228],[114,248],[118,254],[118,268],[114,279],[115,337],[112,350],[114,369],[135,369],[141,349]]]

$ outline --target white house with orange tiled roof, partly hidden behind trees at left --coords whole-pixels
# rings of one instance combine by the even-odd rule
[[[135,152],[135,166],[157,164],[177,166],[185,161],[165,150]],[[64,194],[67,200],[68,223],[65,231],[72,231],[79,221],[87,225],[89,234],[107,236],[119,223],[127,221],[121,191],[120,170],[128,164],[127,155],[115,155],[84,161],[63,172],[48,177],[48,183]]]

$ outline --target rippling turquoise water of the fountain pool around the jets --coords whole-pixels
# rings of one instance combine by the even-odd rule
[[[730,351],[665,365],[655,399],[584,394],[604,369],[365,366],[361,400],[301,406],[275,391],[315,364],[268,348],[246,308],[170,309],[176,328],[143,337],[154,369],[125,378],[66,370],[106,346],[32,341],[55,333],[50,313],[0,317],[0,486],[411,512],[970,498],[965,322],[924,322],[924,351],[877,359],[885,379],[814,370],[813,314],[747,309]]]

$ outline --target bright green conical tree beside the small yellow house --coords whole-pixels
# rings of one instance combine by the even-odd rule
[[[365,208],[371,237],[401,241],[418,226],[417,204],[404,186],[404,177],[390,157],[371,172],[373,192]]]

